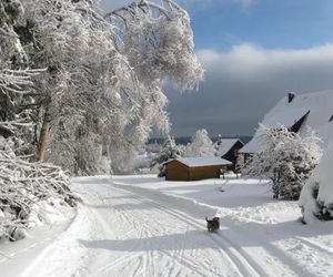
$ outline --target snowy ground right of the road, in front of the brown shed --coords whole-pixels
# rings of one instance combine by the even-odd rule
[[[114,179],[134,183],[130,176]],[[222,217],[219,236],[250,255],[268,276],[333,276],[332,223],[300,224],[297,203],[273,201],[268,182],[226,178],[178,183],[145,176],[137,177],[135,186],[214,205]]]

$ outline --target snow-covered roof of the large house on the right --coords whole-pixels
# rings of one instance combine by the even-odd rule
[[[264,116],[262,124],[266,126],[282,124],[291,127],[304,115],[306,117],[299,131],[300,135],[302,136],[306,126],[310,126],[322,140],[321,146],[325,147],[333,137],[333,121],[330,122],[333,115],[333,90],[295,94],[290,103],[289,98],[285,96]],[[258,133],[255,133],[241,152],[255,153],[260,150],[260,145]]]

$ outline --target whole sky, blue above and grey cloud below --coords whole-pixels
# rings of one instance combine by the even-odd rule
[[[102,0],[112,10],[124,0]],[[191,17],[205,78],[167,89],[175,136],[252,135],[287,92],[333,89],[332,0],[179,0]]]

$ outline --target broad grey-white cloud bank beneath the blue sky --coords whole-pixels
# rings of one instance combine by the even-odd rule
[[[229,52],[198,52],[205,68],[199,92],[170,94],[176,134],[251,134],[289,91],[333,89],[333,43],[304,50],[268,50],[251,43]],[[185,111],[185,112],[184,112]]]

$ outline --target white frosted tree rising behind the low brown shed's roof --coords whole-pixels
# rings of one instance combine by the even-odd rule
[[[192,142],[189,143],[184,151],[186,157],[206,157],[214,156],[215,147],[209,137],[209,133],[202,129],[198,130],[192,136]]]

